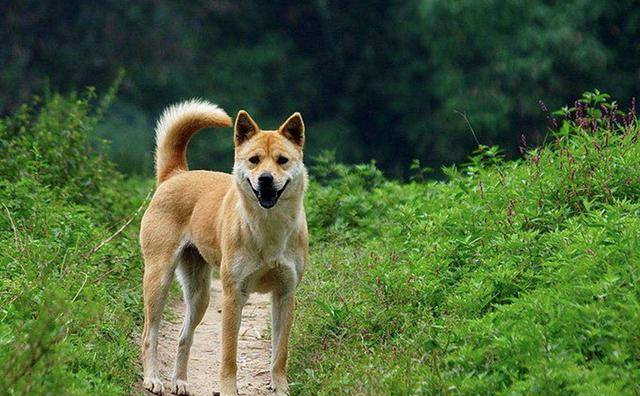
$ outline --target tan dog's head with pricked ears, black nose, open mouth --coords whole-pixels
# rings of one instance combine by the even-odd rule
[[[241,193],[265,209],[304,183],[304,122],[294,113],[277,130],[263,131],[241,110],[234,126],[233,173]]]

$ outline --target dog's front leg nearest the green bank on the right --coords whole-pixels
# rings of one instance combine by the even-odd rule
[[[277,396],[289,394],[287,382],[287,352],[289,334],[293,323],[295,291],[286,294],[274,291],[271,296],[272,345],[271,351],[271,387]]]

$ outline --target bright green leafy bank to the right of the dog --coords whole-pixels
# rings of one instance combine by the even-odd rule
[[[319,162],[295,394],[640,392],[640,124],[597,92],[557,115],[446,183]]]

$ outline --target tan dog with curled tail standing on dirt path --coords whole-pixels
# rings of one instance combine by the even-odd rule
[[[191,136],[231,127],[231,174],[188,170]],[[303,195],[305,126],[300,113],[277,130],[261,130],[244,110],[235,123],[218,106],[192,100],[165,110],[156,127],[157,188],[140,228],[144,256],[144,387],[162,394],[158,327],[174,273],[186,313],[171,390],[189,394],[187,362],[196,326],[209,304],[212,269],[222,282],[220,394],[237,394],[237,344],[242,308],[253,292],[271,293],[271,388],[289,393],[287,350],[296,288],[308,262]]]

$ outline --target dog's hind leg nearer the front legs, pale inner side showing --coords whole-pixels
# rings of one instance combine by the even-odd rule
[[[211,266],[202,259],[193,247],[184,250],[178,263],[176,273],[182,285],[185,316],[171,385],[173,393],[176,395],[189,394],[187,383],[189,352],[193,344],[193,333],[209,306],[211,269]]]

